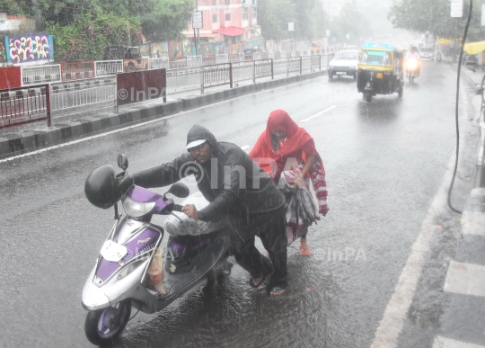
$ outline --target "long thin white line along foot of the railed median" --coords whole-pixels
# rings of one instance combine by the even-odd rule
[[[185,112],[179,112],[179,113],[176,113],[174,115],[170,115],[170,116],[165,116],[161,119],[156,119],[156,120],[148,120],[146,122],[143,122],[143,123],[138,123],[138,124],[135,124],[133,126],[129,126],[129,127],[126,127],[126,128],[121,128],[121,129],[116,129],[116,130],[111,130],[109,132],[106,132],[106,133],[101,133],[101,134],[98,134],[98,135],[95,135],[95,136],[91,136],[91,137],[88,137],[88,138],[80,138],[80,139],[77,139],[77,140],[73,140],[73,141],[69,141],[67,143],[63,143],[63,144],[59,144],[59,145],[55,145],[53,147],[46,147],[46,148],[41,148],[40,150],[36,150],[36,151],[32,151],[32,152],[28,152],[26,154],[22,154],[22,155],[17,155],[17,156],[12,156],[12,157],[8,157],[8,158],[4,158],[4,159],[0,159],[0,164],[2,163],[5,163],[5,162],[9,162],[9,161],[13,161],[14,159],[17,159],[17,158],[22,158],[22,157],[26,157],[26,156],[32,156],[32,155],[36,155],[36,154],[40,154],[42,152],[47,152],[49,150],[52,150],[54,148],[60,148],[60,147],[67,147],[69,145],[73,145],[73,144],[77,144],[77,143],[81,143],[83,141],[87,141],[87,140],[91,140],[93,138],[101,138],[101,137],[106,137],[110,134],[114,134],[114,133],[119,133],[120,131],[125,131],[125,130],[129,130],[129,129],[134,129],[134,128],[138,128],[138,127],[142,127],[142,126],[145,126],[147,124],[150,124],[150,123],[154,123],[154,122],[159,122],[161,120],[168,120],[168,119],[172,119],[173,117],[176,117],[176,116],[181,116],[185,113],[189,113],[189,112],[197,112],[198,110],[201,110],[201,109],[204,109],[204,108],[207,108],[207,107],[211,107],[211,106],[216,106],[216,105],[219,105],[219,104],[222,104],[222,103],[228,103],[228,102],[232,102],[232,101],[235,101],[235,100],[239,100],[239,99],[242,99],[242,98],[245,98],[247,96],[251,96],[251,95],[254,95],[254,94],[260,94],[260,93],[268,93],[268,92],[271,92],[271,91],[274,91],[274,90],[277,90],[277,89],[281,89],[281,88],[287,88],[287,87],[291,87],[292,85],[301,85],[303,84],[304,82],[309,82],[309,81],[317,81],[318,79],[321,79],[323,78],[324,76],[321,76],[321,77],[316,77],[316,78],[312,78],[312,79],[307,79],[307,80],[304,80],[304,81],[299,81],[299,82],[295,82],[294,84],[289,84],[289,85],[280,85],[278,87],[274,87],[274,88],[271,88],[271,89],[268,89],[268,90],[264,90],[264,91],[258,91],[258,92],[254,92],[254,93],[251,93],[251,94],[244,94],[244,95],[241,95],[240,97],[237,97],[237,98],[232,98],[232,99],[227,99],[225,101],[222,101],[222,102],[218,102],[218,103],[212,103],[212,104],[208,104],[208,105],[204,105],[204,106],[201,106],[199,108],[196,108],[196,109],[191,109],[191,110],[188,110],[188,111],[185,111]],[[2,136],[0,135],[0,138],[2,138]]]

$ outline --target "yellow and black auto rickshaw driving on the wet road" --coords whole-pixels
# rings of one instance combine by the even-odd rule
[[[383,43],[367,43],[362,48],[357,68],[357,91],[367,103],[376,94],[402,97],[404,89],[404,56],[399,49]]]

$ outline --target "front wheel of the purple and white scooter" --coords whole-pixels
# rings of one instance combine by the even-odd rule
[[[84,322],[84,333],[92,344],[112,344],[127,326],[130,314],[129,299],[119,302],[118,308],[109,307],[90,311]]]

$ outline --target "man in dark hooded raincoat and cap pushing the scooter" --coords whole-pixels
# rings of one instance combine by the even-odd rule
[[[145,188],[162,187],[195,174],[198,189],[210,203],[197,210],[185,205],[188,217],[201,221],[226,219],[236,261],[250,272],[257,288],[273,272],[267,292],[278,296],[287,289],[285,198],[268,174],[240,147],[217,142],[206,128],[195,125],[187,135],[189,153],[172,162],[134,174]],[[259,236],[273,265],[254,246]],[[274,271],[273,271],[274,270]]]

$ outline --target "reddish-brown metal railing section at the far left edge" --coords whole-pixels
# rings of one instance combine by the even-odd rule
[[[49,85],[0,91],[0,129],[39,120],[50,127]]]

